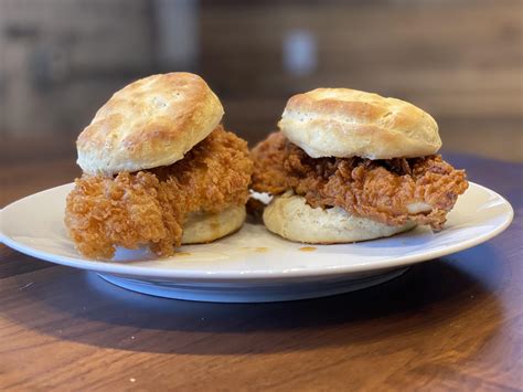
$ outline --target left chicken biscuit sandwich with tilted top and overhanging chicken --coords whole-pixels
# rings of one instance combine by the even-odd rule
[[[79,135],[83,176],[65,225],[77,250],[116,246],[169,256],[238,230],[253,171],[247,144],[220,124],[223,107],[190,73],[153,75],[118,91]]]

